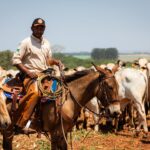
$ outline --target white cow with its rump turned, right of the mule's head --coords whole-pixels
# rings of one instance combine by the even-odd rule
[[[144,131],[147,133],[148,128],[144,108],[148,82],[147,77],[140,70],[125,68],[116,72],[115,78],[119,84],[120,99],[130,99],[139,114],[137,131],[143,126]]]

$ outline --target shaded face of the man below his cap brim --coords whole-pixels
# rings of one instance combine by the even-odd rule
[[[41,38],[42,35],[44,34],[44,30],[45,30],[45,26],[32,26],[32,32],[33,32],[33,35],[37,38]]]

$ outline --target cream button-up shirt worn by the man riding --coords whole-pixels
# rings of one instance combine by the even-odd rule
[[[52,52],[48,40],[42,40],[31,35],[24,39],[14,53],[12,64],[23,64],[30,71],[41,72],[49,67],[48,59],[52,57]]]

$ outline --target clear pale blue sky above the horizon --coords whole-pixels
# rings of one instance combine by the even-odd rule
[[[38,17],[63,52],[150,52],[150,0],[0,0],[0,50],[16,50]]]

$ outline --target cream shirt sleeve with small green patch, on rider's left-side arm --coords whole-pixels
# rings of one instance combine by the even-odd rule
[[[14,52],[13,57],[12,57],[12,65],[17,65],[22,63],[22,58],[25,55],[27,46],[25,42],[21,42],[16,50]]]

